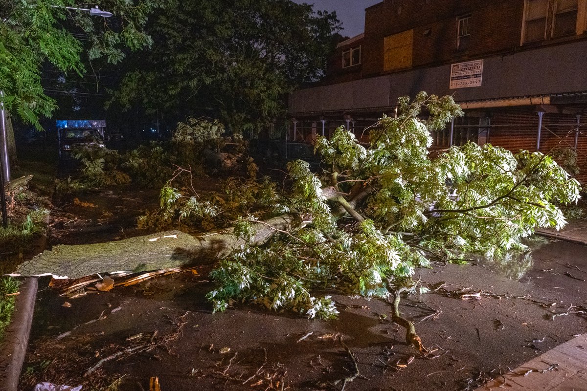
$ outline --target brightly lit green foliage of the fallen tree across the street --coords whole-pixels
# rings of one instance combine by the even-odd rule
[[[185,217],[189,205],[192,223],[224,219],[251,243],[212,271],[215,310],[250,301],[330,318],[335,306],[315,288],[399,300],[414,287],[414,269],[431,260],[502,260],[524,251],[536,227],[564,226],[557,205],[575,202],[579,183],[551,157],[467,144],[430,158],[430,131],[455,115],[461,110],[451,97],[404,97],[396,117],[372,128],[368,145],[344,128],[318,138],[323,172],[291,162],[291,186],[282,191],[266,179],[232,183],[241,190],[216,200],[174,188],[163,206],[168,216]],[[279,213],[297,216],[298,228],[255,246],[252,223]]]

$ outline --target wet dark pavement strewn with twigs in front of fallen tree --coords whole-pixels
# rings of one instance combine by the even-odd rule
[[[585,246],[533,245],[531,259],[500,267],[417,273],[437,290],[400,309],[429,358],[406,345],[381,300],[325,292],[339,303],[335,321],[238,304],[212,314],[204,269],[73,300],[42,290],[21,389],[35,380],[98,388],[123,376],[120,390],[139,391],[158,376],[162,390],[340,390],[355,373],[350,351],[359,376],[348,391],[473,390],[587,331]]]

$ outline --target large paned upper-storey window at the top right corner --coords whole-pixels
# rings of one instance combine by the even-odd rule
[[[579,0],[526,0],[522,43],[583,32],[584,26],[578,26],[586,11],[582,4]]]

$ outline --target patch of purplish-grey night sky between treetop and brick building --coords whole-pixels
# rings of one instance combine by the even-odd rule
[[[314,5],[314,11],[336,11],[344,30],[340,33],[353,37],[365,30],[365,8],[383,0],[294,0],[298,4]]]

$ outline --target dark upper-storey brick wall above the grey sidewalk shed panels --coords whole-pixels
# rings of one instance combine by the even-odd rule
[[[458,62],[519,47],[524,0],[385,0],[366,9],[362,65],[341,72],[342,50],[330,63],[329,83],[383,73],[383,40],[414,29],[412,67]],[[470,15],[470,44],[457,50],[457,18]],[[349,72],[350,71],[350,72]]]

